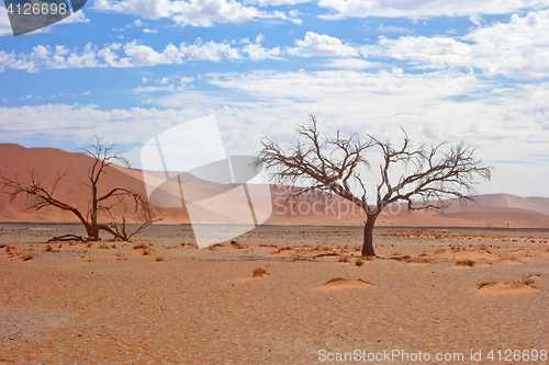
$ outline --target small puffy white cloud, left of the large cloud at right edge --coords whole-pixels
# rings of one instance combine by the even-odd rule
[[[344,45],[338,38],[313,32],[307,32],[303,41],[295,39],[295,45],[293,48],[288,48],[290,55],[302,57],[349,57],[359,55],[355,47]]]

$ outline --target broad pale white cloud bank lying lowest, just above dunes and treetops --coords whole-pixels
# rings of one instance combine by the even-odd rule
[[[542,182],[549,179],[549,169],[539,172],[541,166],[548,166],[544,161],[549,139],[549,82],[494,90],[491,81],[472,73],[410,75],[401,69],[216,73],[203,76],[201,82],[215,88],[187,90],[167,83],[134,89],[144,102],[161,110],[100,111],[55,104],[0,107],[0,135],[14,141],[38,134],[64,136],[82,145],[99,135],[105,142],[138,145],[181,122],[215,113],[227,150],[247,155],[259,148],[262,136],[285,144],[296,124],[306,123],[309,113],[320,112],[320,126],[327,133],[339,128],[397,141],[402,126],[415,144],[463,139],[479,146],[479,157],[497,168],[494,181],[481,185],[484,192],[539,195],[546,189]],[[477,98],[457,101],[457,95]],[[522,176],[505,161],[530,163],[539,179],[524,186]],[[528,173],[527,168],[520,171]]]

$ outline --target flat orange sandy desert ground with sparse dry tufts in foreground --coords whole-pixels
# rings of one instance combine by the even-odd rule
[[[155,226],[47,249],[69,232],[0,224],[0,364],[354,364],[320,356],[354,351],[515,364],[505,350],[549,350],[549,231],[380,228],[361,266],[352,227],[265,226],[199,250],[190,226]],[[351,282],[318,289],[334,278]]]

